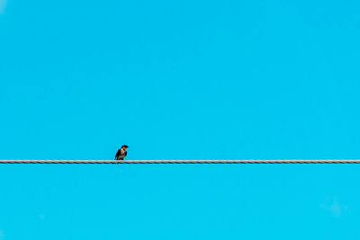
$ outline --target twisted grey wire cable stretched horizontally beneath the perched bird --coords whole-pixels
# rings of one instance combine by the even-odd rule
[[[360,160],[0,160],[0,164],[360,164]]]

